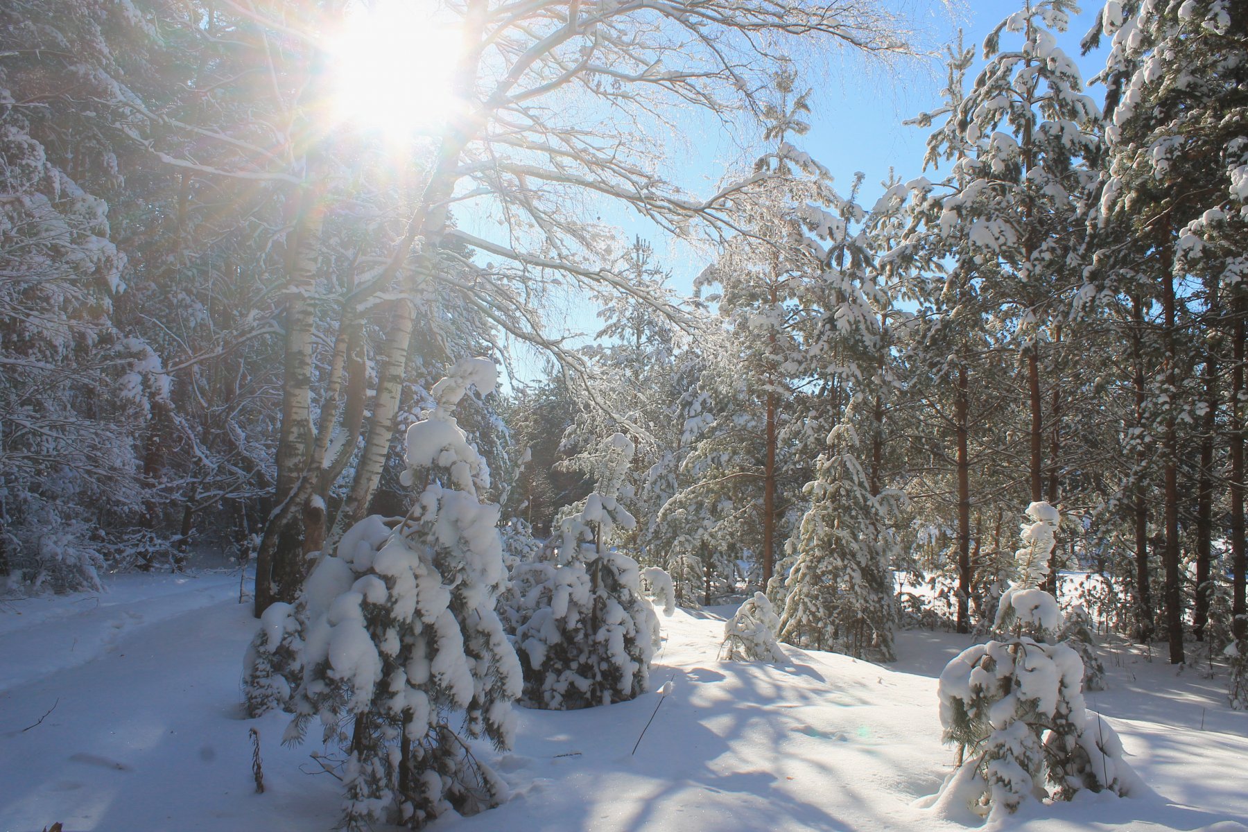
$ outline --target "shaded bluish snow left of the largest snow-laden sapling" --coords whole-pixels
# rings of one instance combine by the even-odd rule
[[[242,650],[255,621],[250,606],[237,604],[237,576],[191,579],[181,591],[166,591],[177,580],[135,581],[156,593],[144,599],[139,586],[119,586],[99,605],[77,602],[72,611],[42,609],[66,599],[20,602],[35,605],[44,624],[11,626],[12,612],[0,612],[10,625],[0,635],[0,687],[6,689],[0,692],[0,830],[39,832],[55,821],[65,832],[332,826],[337,783],[298,771],[307,751],[281,753],[277,738],[286,720],[242,718]],[[61,655],[79,655],[84,644],[99,647],[94,660],[76,664]],[[22,657],[37,654],[35,645],[59,647],[36,659],[37,674],[21,666]],[[22,681],[10,685],[14,677]],[[54,704],[42,723],[24,730]],[[265,748],[271,788],[263,796],[252,793],[250,773],[247,728],[255,723],[272,740]]]

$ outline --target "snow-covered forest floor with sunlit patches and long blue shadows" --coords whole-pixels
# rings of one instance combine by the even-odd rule
[[[0,601],[0,832],[328,832],[338,782],[280,745],[286,717],[245,720],[242,655],[255,629],[237,574],[116,576],[109,593]],[[784,665],[721,662],[729,607],[660,616],[658,694],[587,711],[520,711],[494,761],[500,808],[439,832],[958,830],[914,807],[948,772],[936,676],[966,636],[899,634],[882,667],[786,647]],[[1248,827],[1248,713],[1224,677],[1176,675],[1157,654],[1107,651],[1092,694],[1153,792],[1035,806],[1041,832]],[[654,717],[636,753],[646,721]],[[41,720],[41,721],[40,721]],[[248,730],[261,736],[255,793]]]

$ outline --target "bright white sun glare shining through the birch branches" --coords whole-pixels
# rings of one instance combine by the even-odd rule
[[[458,32],[431,0],[352,4],[329,42],[334,119],[404,137],[437,128],[454,105]]]

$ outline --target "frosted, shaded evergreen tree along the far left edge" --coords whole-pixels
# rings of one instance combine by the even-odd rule
[[[129,95],[105,30],[132,29],[110,4],[69,11],[0,10],[0,585],[22,593],[100,589],[101,531],[146,495],[134,439],[170,392],[116,324],[127,258],[89,190],[116,172],[101,133]]]

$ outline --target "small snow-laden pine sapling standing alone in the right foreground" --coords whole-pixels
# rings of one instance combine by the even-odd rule
[[[1057,510],[1032,503],[1027,515],[995,637],[963,650],[940,677],[945,741],[958,746],[960,762],[938,802],[965,801],[988,817],[1036,796],[1142,788],[1113,730],[1085,707],[1083,662],[1057,640],[1057,600],[1037,586],[1048,571]]]

